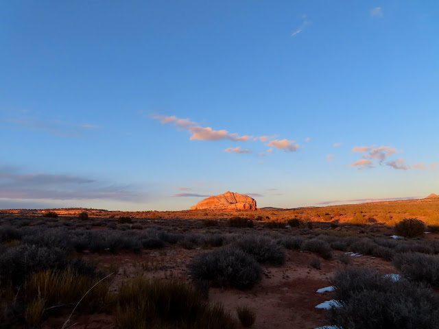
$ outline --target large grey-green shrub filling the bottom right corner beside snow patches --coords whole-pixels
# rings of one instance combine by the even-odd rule
[[[331,324],[355,329],[438,328],[439,300],[430,289],[394,281],[372,269],[339,271],[333,279],[335,300],[327,310]]]

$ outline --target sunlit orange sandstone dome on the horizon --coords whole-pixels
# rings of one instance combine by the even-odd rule
[[[257,210],[256,200],[248,195],[227,191],[224,194],[208,197],[191,207],[191,210]]]

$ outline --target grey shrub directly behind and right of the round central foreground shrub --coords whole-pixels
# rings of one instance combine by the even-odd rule
[[[235,245],[260,264],[282,265],[287,258],[283,247],[267,236],[244,236]]]

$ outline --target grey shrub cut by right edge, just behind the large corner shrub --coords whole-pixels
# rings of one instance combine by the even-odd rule
[[[393,264],[405,278],[439,287],[439,256],[407,252],[396,254]]]

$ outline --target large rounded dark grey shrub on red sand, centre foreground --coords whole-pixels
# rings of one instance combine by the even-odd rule
[[[219,287],[250,289],[261,281],[261,266],[240,249],[222,248],[198,254],[188,267],[194,280],[208,280]]]

